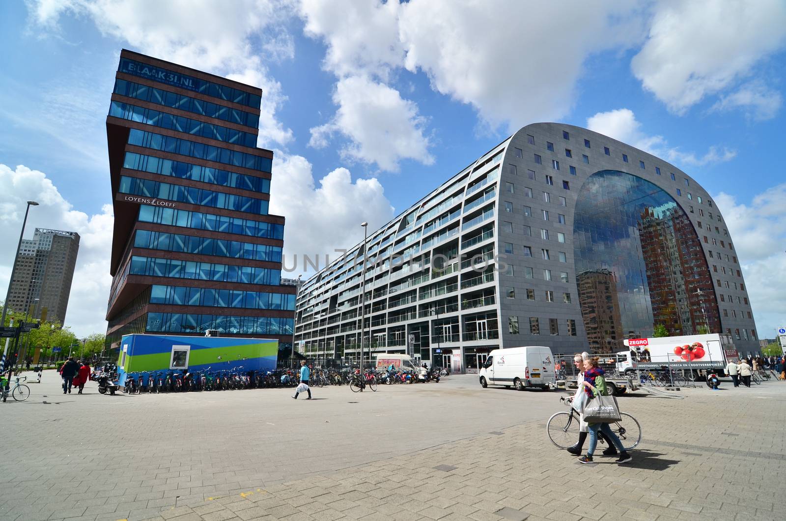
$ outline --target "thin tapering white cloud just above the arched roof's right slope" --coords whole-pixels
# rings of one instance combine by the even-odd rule
[[[652,155],[663,157],[666,161],[679,166],[699,167],[731,161],[736,157],[735,150],[725,147],[711,146],[701,156],[697,156],[693,152],[683,152],[677,147],[670,147],[663,136],[646,135],[641,131],[641,123],[630,109],[615,109],[597,113],[587,118],[587,128],[626,142],[645,152],[652,153]]]

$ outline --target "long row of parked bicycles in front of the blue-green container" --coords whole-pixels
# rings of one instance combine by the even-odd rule
[[[309,385],[350,386],[358,392],[365,388],[376,390],[378,384],[439,382],[439,371],[376,371],[369,369],[360,376],[357,369],[316,368],[311,371]],[[180,393],[193,391],[264,389],[270,387],[294,387],[299,383],[299,371],[277,369],[275,371],[244,371],[234,369],[204,371],[141,371],[128,373],[125,381],[127,394]],[[114,393],[112,393],[114,394]]]

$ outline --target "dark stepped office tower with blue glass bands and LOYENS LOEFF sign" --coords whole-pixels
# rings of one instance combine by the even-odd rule
[[[115,229],[107,343],[123,334],[292,342],[262,91],[123,50],[106,120]]]

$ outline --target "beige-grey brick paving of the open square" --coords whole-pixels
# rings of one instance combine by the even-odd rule
[[[784,382],[620,398],[645,438],[624,465],[551,445],[560,394],[469,375],[297,402],[38,385],[2,405],[0,519],[786,519]]]

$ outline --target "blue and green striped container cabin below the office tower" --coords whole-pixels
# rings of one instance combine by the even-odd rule
[[[273,371],[278,341],[270,338],[127,334],[117,360],[119,385],[144,371]]]

